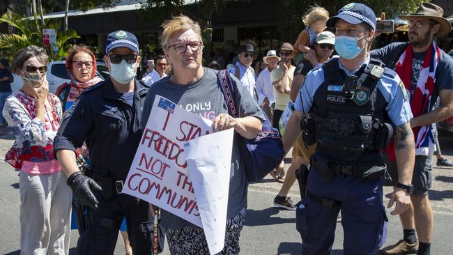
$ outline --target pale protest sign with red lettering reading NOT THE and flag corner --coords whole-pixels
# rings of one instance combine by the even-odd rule
[[[183,145],[212,132],[211,123],[156,95],[123,193],[202,227]]]

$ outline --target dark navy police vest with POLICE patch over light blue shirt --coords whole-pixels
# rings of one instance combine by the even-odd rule
[[[374,162],[392,137],[387,102],[378,89],[385,69],[371,60],[347,76],[338,61],[323,65],[324,82],[314,94],[310,115],[316,155],[341,164]]]

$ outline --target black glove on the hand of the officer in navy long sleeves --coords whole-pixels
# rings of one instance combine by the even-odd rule
[[[67,183],[71,187],[75,199],[82,206],[98,208],[98,199],[96,199],[91,189],[100,192],[102,188],[92,178],[85,176],[81,171],[76,171],[69,176]]]

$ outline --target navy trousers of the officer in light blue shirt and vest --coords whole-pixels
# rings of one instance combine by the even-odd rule
[[[305,197],[296,205],[296,229],[302,238],[302,254],[331,253],[339,210],[344,229],[344,254],[373,254],[385,243],[387,216],[381,178],[364,180],[335,175],[335,180],[325,182],[312,168],[307,190],[341,204],[327,208]]]

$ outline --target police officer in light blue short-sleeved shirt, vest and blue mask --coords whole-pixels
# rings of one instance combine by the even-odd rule
[[[341,210],[344,254],[372,254],[386,238],[380,154],[393,131],[400,183],[388,207],[396,202],[391,214],[397,215],[410,206],[412,115],[398,75],[369,58],[374,12],[362,3],[349,3],[330,17],[328,26],[335,27],[339,58],[309,72],[283,137],[286,151],[300,128],[307,145],[317,144],[307,196],[296,208],[296,228],[302,254],[330,254]]]

